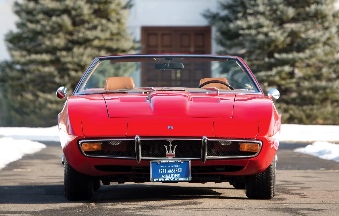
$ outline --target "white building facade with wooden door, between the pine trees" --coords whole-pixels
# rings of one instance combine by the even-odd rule
[[[133,5],[127,27],[134,39],[140,41],[142,53],[218,51],[213,40],[215,30],[202,16],[206,9],[217,10],[217,0],[134,0]],[[132,75],[136,86],[151,84],[144,73],[140,68]],[[164,79],[171,77],[157,82],[168,83]]]

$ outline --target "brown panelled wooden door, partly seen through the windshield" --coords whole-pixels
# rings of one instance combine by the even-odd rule
[[[211,53],[211,27],[142,27],[142,53]],[[176,60],[176,62],[180,62]],[[210,62],[190,61],[181,70],[154,70],[154,62],[144,62],[141,85],[197,87],[211,75]]]

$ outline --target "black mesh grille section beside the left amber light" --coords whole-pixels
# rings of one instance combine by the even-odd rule
[[[103,141],[101,151],[85,151],[89,156],[115,156],[115,157],[135,157],[135,142],[129,141]]]

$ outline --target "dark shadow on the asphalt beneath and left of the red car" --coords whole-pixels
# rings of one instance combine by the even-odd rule
[[[214,189],[224,190],[219,193]],[[131,202],[187,199],[247,199],[227,196],[234,188],[183,187],[169,185],[126,184],[101,186],[89,201],[77,202]],[[0,186],[0,204],[47,204],[67,203],[63,195],[63,185]],[[221,196],[222,195],[222,196]]]

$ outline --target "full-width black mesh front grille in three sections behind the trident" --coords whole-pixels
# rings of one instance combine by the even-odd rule
[[[89,141],[82,141],[89,142]],[[134,140],[103,140],[100,151],[86,151],[87,156],[136,158]],[[257,152],[239,150],[243,141],[213,140],[207,141],[207,158],[214,157],[251,157]],[[248,141],[246,141],[248,143]],[[171,144],[171,146],[169,146]],[[140,139],[141,157],[156,158],[201,158],[202,139]],[[171,156],[166,156],[166,149]],[[175,154],[175,155],[174,155]]]

